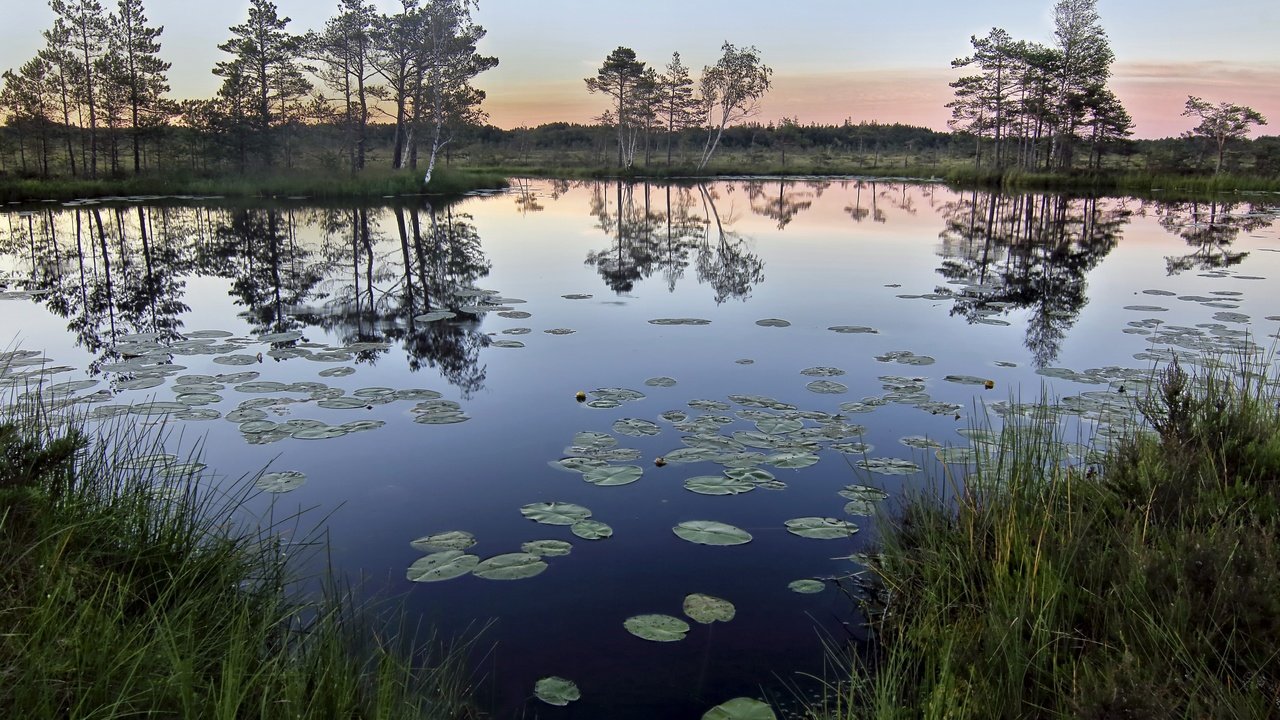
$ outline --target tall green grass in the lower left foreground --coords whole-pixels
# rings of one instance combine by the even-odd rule
[[[301,596],[297,519],[233,523],[252,486],[166,478],[155,447],[31,398],[0,418],[0,715],[472,716],[466,647],[415,660],[337,582]]]

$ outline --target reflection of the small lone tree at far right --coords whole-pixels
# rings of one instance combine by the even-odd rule
[[[1231,243],[1240,231],[1253,232],[1268,227],[1275,218],[1260,213],[1254,205],[1248,205],[1243,213],[1236,213],[1240,202],[1155,202],[1160,227],[1181,237],[1193,252],[1165,258],[1170,275],[1184,270],[1213,270],[1239,265],[1249,256],[1248,252],[1233,250]]]

